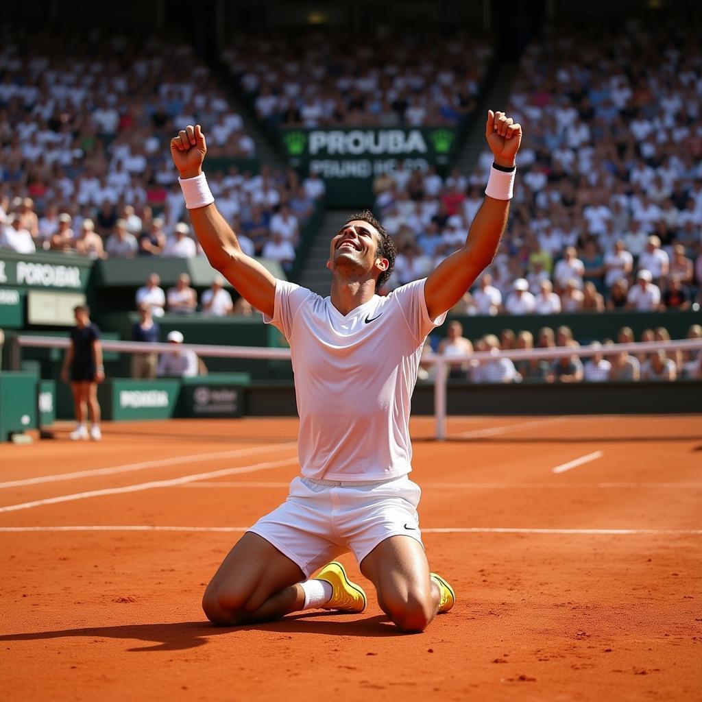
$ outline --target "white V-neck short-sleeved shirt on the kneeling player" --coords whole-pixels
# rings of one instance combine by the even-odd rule
[[[411,468],[409,411],[430,319],[425,279],[374,295],[344,315],[306,288],[278,280],[274,324],[291,347],[303,475],[383,480]]]

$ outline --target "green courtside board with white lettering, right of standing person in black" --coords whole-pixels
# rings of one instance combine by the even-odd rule
[[[108,420],[169,419],[176,416],[180,380],[113,378],[98,386],[102,417]]]

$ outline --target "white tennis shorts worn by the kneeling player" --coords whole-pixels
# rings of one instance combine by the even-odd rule
[[[343,552],[362,560],[390,536],[422,543],[419,486],[409,477],[366,484],[296,477],[286,501],[249,529],[272,543],[309,578]]]

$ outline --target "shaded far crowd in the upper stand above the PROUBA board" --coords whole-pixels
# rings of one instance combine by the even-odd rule
[[[383,27],[237,37],[223,62],[272,127],[456,125],[475,109],[493,50],[463,32]],[[402,37],[402,38],[399,38]]]

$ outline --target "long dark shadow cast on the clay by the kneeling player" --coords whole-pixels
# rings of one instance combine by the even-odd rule
[[[183,651],[204,646],[213,636],[235,635],[238,631],[274,631],[282,634],[326,634],[327,636],[391,637],[404,636],[390,623],[384,614],[338,621],[343,616],[338,612],[310,612],[286,616],[270,623],[246,624],[237,627],[219,627],[208,622],[184,621],[161,624],[127,624],[123,626],[99,626],[84,629],[61,629],[27,634],[6,634],[0,641],[41,641],[65,637],[85,637],[93,640],[124,639],[157,642],[152,646],[140,646],[127,651]],[[334,617],[335,621],[325,621]]]

